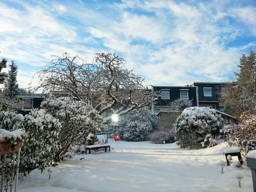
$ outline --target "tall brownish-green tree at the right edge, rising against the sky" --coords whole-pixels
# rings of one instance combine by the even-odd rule
[[[238,67],[235,81],[225,86],[227,95],[222,98],[227,113],[235,116],[256,106],[256,53],[243,54]]]

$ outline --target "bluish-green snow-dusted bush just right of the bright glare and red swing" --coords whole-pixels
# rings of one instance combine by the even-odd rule
[[[125,141],[146,141],[156,126],[156,117],[147,108],[131,111],[119,127],[119,135]]]

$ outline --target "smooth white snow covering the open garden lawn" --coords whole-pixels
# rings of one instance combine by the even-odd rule
[[[114,142],[111,152],[92,152],[65,159],[47,171],[36,170],[19,181],[19,192],[30,191],[253,191],[251,171],[225,166],[226,143],[209,149],[180,149],[175,143]],[[81,159],[82,160],[79,160]],[[47,170],[47,169],[46,169]],[[242,188],[236,175],[242,172]]]

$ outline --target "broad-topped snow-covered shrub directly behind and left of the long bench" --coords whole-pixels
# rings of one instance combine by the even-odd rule
[[[103,119],[98,111],[83,101],[50,98],[43,101],[41,107],[53,117],[58,118],[62,125],[59,135],[61,148],[55,161],[60,161],[65,157],[70,145],[84,142],[90,132],[95,135],[103,127]]]

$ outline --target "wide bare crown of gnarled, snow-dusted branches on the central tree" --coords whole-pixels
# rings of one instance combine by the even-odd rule
[[[144,79],[125,69],[124,64],[122,58],[110,53],[97,53],[92,63],[68,53],[54,56],[51,66],[38,71],[40,84],[36,89],[60,91],[77,100],[93,102],[100,115],[107,110],[121,115],[150,106],[159,93],[145,89]]]

